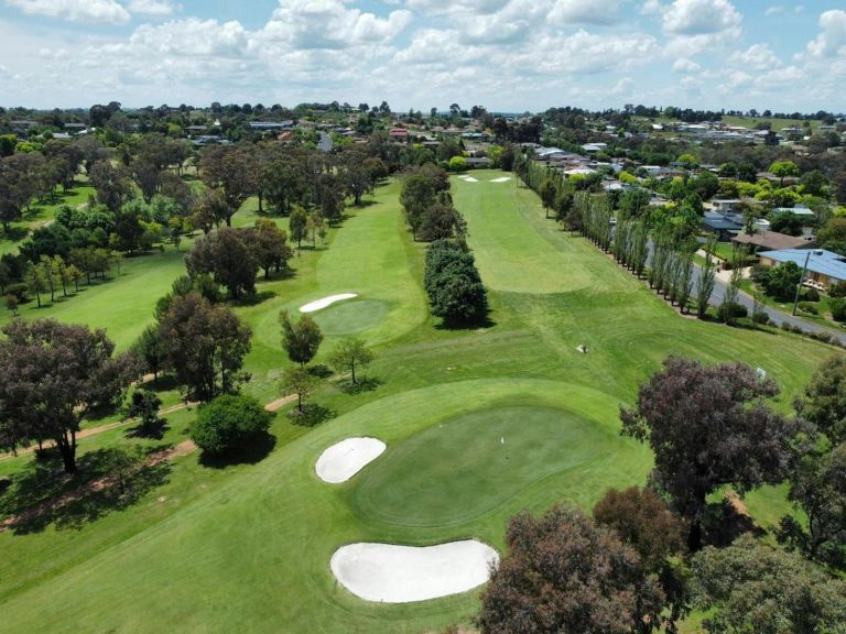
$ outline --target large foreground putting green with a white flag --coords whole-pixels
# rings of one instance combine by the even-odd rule
[[[507,405],[434,425],[390,448],[351,501],[375,520],[436,527],[484,515],[527,489],[565,492],[619,439],[579,414]]]

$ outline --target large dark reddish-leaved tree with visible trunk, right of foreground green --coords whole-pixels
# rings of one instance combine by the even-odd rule
[[[620,408],[622,434],[655,453],[652,481],[690,523],[691,550],[702,548],[709,493],[731,484],[742,494],[784,478],[795,429],[763,402],[778,393],[742,363],[705,368],[670,357],[641,385],[637,406]]]

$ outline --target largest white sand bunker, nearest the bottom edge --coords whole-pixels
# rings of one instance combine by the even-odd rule
[[[411,603],[467,592],[488,581],[499,555],[468,539],[426,548],[350,544],[332,556],[335,578],[366,601]]]

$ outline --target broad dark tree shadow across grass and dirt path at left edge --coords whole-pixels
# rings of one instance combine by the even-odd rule
[[[166,460],[148,463],[148,450],[97,449],[79,457],[78,472],[68,476],[61,461],[33,460],[12,479],[0,496],[0,527],[15,535],[41,533],[47,526],[79,529],[112,511],[132,506],[147,493],[165,484],[171,472]]]

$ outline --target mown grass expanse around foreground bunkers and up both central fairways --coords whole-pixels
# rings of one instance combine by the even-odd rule
[[[173,462],[166,484],[124,511],[78,529],[0,533],[3,626],[421,633],[466,624],[477,592],[367,603],[334,581],[332,553],[358,540],[463,537],[501,549],[516,512],[560,501],[587,510],[608,487],[642,484],[651,457],[618,436],[618,406],[633,402],[638,384],[670,353],[766,369],[783,390],[783,411],[832,353],[796,336],[680,317],[595,247],[544,220],[533,194],[490,183],[499,172],[473,175],[479,183],[454,181],[454,197],[491,288],[492,325],[449,331],[427,317],[423,245],[404,227],[398,186],[380,188],[373,205],[350,210],[328,248],[295,259],[293,278],[262,283],[260,300],[237,310],[254,332],[246,390],[270,400],[286,364],[279,309],[358,292],[360,299],[316,316],[335,328],[366,326],[360,332],[379,353],[367,374],[382,384],[358,395],[328,384],[315,401],[338,417],[304,429],[278,416],[276,446],[254,464],[215,469],[189,456]],[[366,302],[388,311],[356,313]],[[350,313],[335,314],[341,309]],[[336,340],[327,336],[317,361]],[[191,414],[174,420],[169,438],[176,441]],[[492,447],[486,425],[495,426]],[[345,484],[322,482],[314,472],[319,453],[358,435],[383,439],[388,451]],[[502,437],[506,445],[497,446]],[[87,438],[82,450],[120,438]],[[495,461],[503,448],[514,451],[507,467]],[[747,505],[766,526],[790,510],[783,490],[752,493]]]

